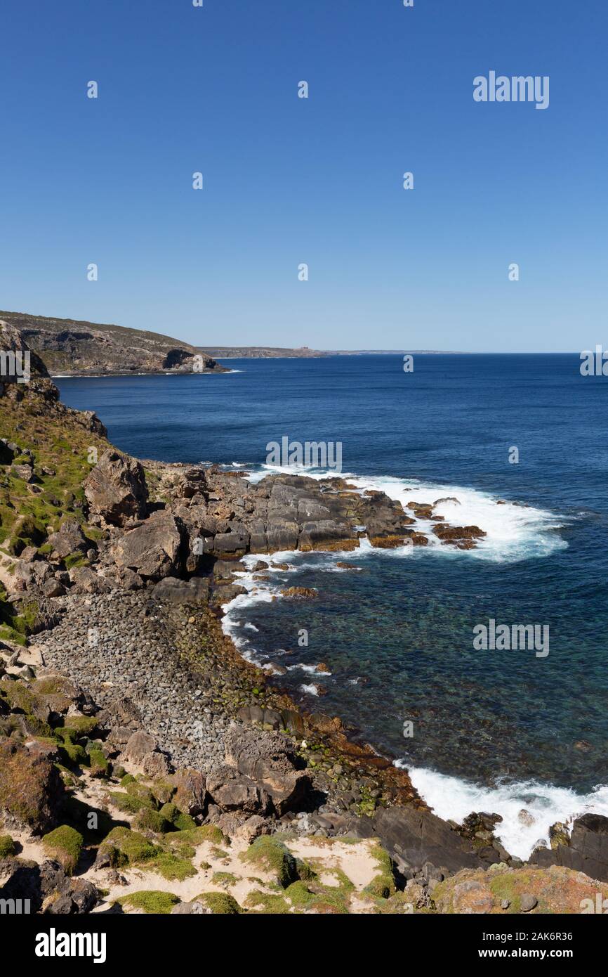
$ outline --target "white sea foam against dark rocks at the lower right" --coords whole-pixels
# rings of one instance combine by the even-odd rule
[[[495,834],[510,855],[523,860],[529,858],[540,839],[548,844],[548,829],[556,821],[568,823],[587,812],[608,817],[608,786],[597,786],[588,794],[534,781],[482,787],[411,767],[404,760],[396,760],[395,766],[407,768],[412,784],[439,818],[460,824],[471,811],[500,814],[503,821]],[[519,818],[521,811],[528,812],[534,822],[524,824]]]

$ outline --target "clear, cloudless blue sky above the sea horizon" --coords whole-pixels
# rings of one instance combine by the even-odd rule
[[[608,347],[605,0],[4,0],[0,33],[0,308],[201,345]],[[490,70],[549,75],[549,107],[473,102]]]

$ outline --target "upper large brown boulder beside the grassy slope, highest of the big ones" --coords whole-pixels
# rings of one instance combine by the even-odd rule
[[[91,515],[112,526],[141,519],[146,512],[147,486],[142,465],[135,458],[108,448],[84,482]]]

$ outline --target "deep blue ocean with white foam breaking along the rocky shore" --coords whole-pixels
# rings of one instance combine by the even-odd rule
[[[242,653],[407,766],[439,816],[501,814],[511,854],[556,820],[608,815],[608,378],[582,376],[578,354],[415,355],[412,372],[392,355],[223,364],[56,382],[141,458],[259,479],[277,470],[270,442],[339,442],[349,481],[404,504],[454,497],[446,521],[487,532],[470,551],[433,538],[281,554],[293,569],[243,577],[258,592],[224,618]],[[271,601],[287,579],[317,599]],[[547,627],[548,654],[476,650],[490,620]]]

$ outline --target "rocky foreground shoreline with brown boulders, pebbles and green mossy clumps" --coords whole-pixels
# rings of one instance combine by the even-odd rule
[[[25,348],[14,327],[4,339]],[[576,894],[608,881],[607,819],[554,826],[523,866],[498,816],[441,821],[406,771],[299,709],[223,634],[243,556],[266,556],[263,575],[277,550],[429,531],[470,548],[483,531],[446,524],[441,499],[404,509],[341,478],[141,462],[34,370],[0,384],[0,895],[50,913],[550,912],[544,872],[577,875]],[[499,898],[507,877],[516,897]]]

